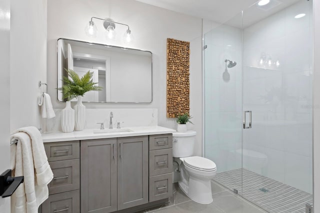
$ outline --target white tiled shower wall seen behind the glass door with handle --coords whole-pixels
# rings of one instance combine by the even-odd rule
[[[302,18],[294,18],[298,13]],[[244,11],[243,16],[249,16]],[[312,193],[312,3],[299,1],[243,30],[243,148],[268,162],[243,167]],[[260,64],[271,59],[271,65]],[[279,61],[279,65],[274,64]],[[296,172],[296,168],[299,172]]]

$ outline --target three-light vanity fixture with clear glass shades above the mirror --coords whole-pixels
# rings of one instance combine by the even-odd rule
[[[103,27],[105,29],[104,31],[104,35],[107,39],[114,39],[115,38],[115,23],[117,24],[121,24],[121,25],[125,25],[128,28],[125,30],[124,34],[123,34],[123,41],[124,43],[130,43],[133,41],[133,36],[131,33],[131,30],[129,28],[129,25],[124,24],[124,23],[119,23],[119,22],[115,22],[113,21],[111,18],[98,18],[98,17],[91,17],[91,20],[89,21],[89,23],[86,25],[84,31],[85,34],[89,37],[96,37],[97,36],[97,27],[94,24],[94,22],[92,21],[92,19],[99,19],[99,20],[103,20]]]

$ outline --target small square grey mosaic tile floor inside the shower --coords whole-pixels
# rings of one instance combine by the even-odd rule
[[[304,213],[305,203],[312,203],[312,194],[245,168],[218,173],[214,180],[229,189],[236,188],[238,194],[272,213]]]

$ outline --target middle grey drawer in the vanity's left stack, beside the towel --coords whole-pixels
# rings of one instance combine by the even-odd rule
[[[80,188],[80,159],[50,162],[53,179],[48,184],[49,194]]]

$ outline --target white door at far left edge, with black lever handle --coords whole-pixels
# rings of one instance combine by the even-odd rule
[[[9,131],[10,131],[10,0],[0,1],[0,173],[8,169],[10,163]],[[10,212],[10,198],[0,198],[0,211]]]

